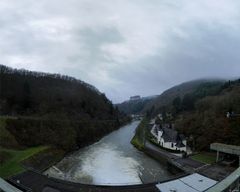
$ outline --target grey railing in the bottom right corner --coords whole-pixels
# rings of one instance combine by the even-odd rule
[[[240,192],[240,167],[206,192]]]

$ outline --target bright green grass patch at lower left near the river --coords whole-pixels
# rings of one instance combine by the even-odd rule
[[[7,154],[7,160],[0,164],[0,177],[7,178],[23,172],[24,169],[21,167],[21,162],[47,148],[46,146],[31,147],[25,150],[0,148],[0,155],[1,153]]]

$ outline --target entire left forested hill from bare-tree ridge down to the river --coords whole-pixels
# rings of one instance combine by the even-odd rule
[[[0,65],[0,147],[95,142],[126,116],[95,87],[72,77]]]

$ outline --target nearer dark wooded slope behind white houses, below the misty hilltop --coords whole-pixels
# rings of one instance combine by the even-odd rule
[[[213,142],[240,145],[240,79],[227,81],[216,90],[214,94],[195,92],[188,100],[172,103],[176,127],[191,136],[190,144],[198,150],[209,149]]]

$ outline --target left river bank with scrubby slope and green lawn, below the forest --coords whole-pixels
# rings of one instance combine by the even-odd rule
[[[29,116],[0,116],[0,176],[8,178],[25,170],[43,172],[79,147],[99,141],[127,122],[127,118],[119,122],[70,122]],[[57,134],[54,134],[55,129],[59,130]],[[45,150],[28,154],[32,148]],[[9,162],[17,165],[16,169]]]

